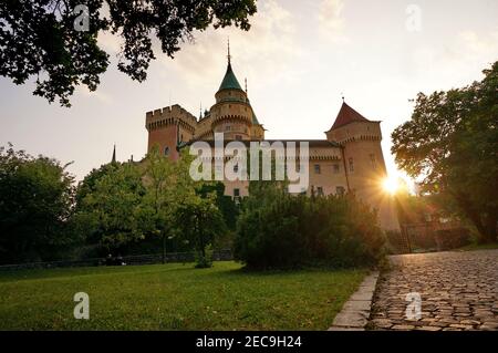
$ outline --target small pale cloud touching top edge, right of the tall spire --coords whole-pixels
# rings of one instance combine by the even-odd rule
[[[331,42],[344,42],[344,3],[342,0],[322,0],[319,7],[318,22],[320,34]]]

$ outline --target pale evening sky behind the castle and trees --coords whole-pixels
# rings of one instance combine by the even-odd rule
[[[96,92],[77,87],[72,107],[33,96],[33,82],[0,77],[0,146],[43,154],[82,179],[107,163],[142,158],[145,113],[179,104],[194,115],[215,103],[231,63],[248,81],[251,105],[266,138],[325,138],[345,102],[382,121],[382,147],[391,176],[397,170],[391,133],[408,121],[418,92],[465,86],[498,60],[496,0],[261,0],[249,32],[237,28],[195,33],[174,59],[162,53],[137,83],[116,68],[120,39],[98,37],[111,54]]]

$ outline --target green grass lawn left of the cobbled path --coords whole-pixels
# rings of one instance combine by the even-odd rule
[[[326,330],[365,273],[231,261],[0,272],[0,330]],[[90,320],[73,318],[76,292]]]

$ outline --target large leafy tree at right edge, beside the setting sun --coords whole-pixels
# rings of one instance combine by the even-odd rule
[[[469,86],[419,93],[412,120],[392,135],[396,163],[480,241],[497,238],[498,62]]]

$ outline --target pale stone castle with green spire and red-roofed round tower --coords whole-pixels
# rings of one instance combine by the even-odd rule
[[[179,105],[146,113],[148,150],[158,146],[166,156],[177,159],[178,146],[194,141],[211,143],[215,133],[224,139],[263,141],[264,128],[250,104],[247,87],[237,80],[228,52],[225,77],[215,94],[216,103],[196,118]],[[370,121],[343,102],[325,139],[309,142],[308,195],[355,193],[378,211],[383,229],[398,229],[392,200],[382,188],[386,167],[381,147],[381,122]],[[282,141],[286,143],[286,141]],[[271,142],[270,142],[271,143]],[[248,181],[225,180],[225,194],[239,198],[248,195]]]

